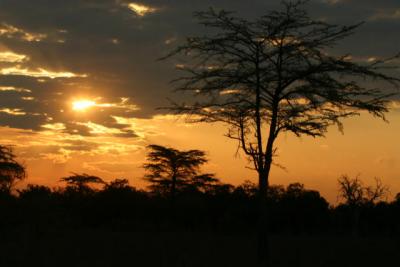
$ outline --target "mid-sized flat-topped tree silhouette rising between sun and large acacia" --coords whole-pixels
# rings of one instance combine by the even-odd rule
[[[212,175],[199,176],[200,166],[207,162],[203,151],[179,151],[160,145],[149,145],[147,149],[144,178],[153,191],[169,194],[174,200],[176,192],[189,184],[199,187],[214,182]]]

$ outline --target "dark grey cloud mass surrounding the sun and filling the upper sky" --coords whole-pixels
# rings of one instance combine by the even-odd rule
[[[154,7],[156,11],[139,16],[128,8],[131,2]],[[161,112],[157,107],[168,103],[168,81],[176,73],[173,62],[156,59],[185,36],[204,31],[193,19],[194,11],[214,7],[251,18],[278,8],[279,2],[2,0],[0,26],[12,26],[18,31],[0,35],[0,52],[13,51],[29,60],[18,64],[0,62],[1,68],[20,65],[32,72],[41,68],[54,74],[88,76],[51,79],[29,74],[0,75],[0,87],[31,91],[0,91],[0,110],[18,109],[26,113],[14,116],[2,112],[0,125],[40,130],[47,123],[63,123],[65,132],[89,136],[93,135],[87,126],[91,122],[114,129],[115,136],[135,137],[129,126],[119,124],[115,116],[149,117]],[[368,58],[394,54],[400,47],[398,0],[314,0],[308,9],[313,17],[335,23],[367,22],[338,52]],[[71,111],[74,97],[98,98],[99,103],[114,106],[95,107],[86,114],[77,114]],[[121,106],[122,98],[129,98],[129,105],[137,105],[140,110]]]

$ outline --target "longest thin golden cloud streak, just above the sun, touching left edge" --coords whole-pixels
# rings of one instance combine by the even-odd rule
[[[0,69],[0,74],[3,75],[21,75],[21,76],[30,76],[35,78],[86,78],[87,74],[76,74],[72,72],[55,72],[46,70],[43,68],[38,68],[37,70],[30,70],[27,68],[22,68],[21,66],[15,66],[10,68]]]

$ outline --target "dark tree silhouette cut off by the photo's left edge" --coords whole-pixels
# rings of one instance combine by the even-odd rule
[[[0,145],[0,191],[7,194],[26,177],[25,167],[15,158],[11,147]]]

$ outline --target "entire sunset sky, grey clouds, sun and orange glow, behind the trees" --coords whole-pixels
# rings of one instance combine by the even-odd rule
[[[12,145],[27,183],[60,186],[61,177],[89,173],[128,178],[144,187],[145,146],[201,149],[205,171],[223,182],[256,182],[222,124],[188,124],[166,111],[177,96],[169,81],[176,62],[157,59],[187,36],[204,33],[193,12],[209,7],[256,18],[280,8],[265,0],[0,0],[0,144]],[[398,0],[313,0],[310,15],[330,23],[364,21],[335,48],[368,62],[400,48]],[[400,72],[397,72],[400,76]],[[397,75],[397,73],[395,73]],[[400,102],[389,123],[368,114],[346,119],[344,134],[277,140],[272,184],[301,182],[337,202],[337,179],[379,177],[400,192]]]

